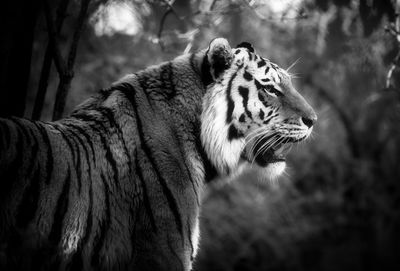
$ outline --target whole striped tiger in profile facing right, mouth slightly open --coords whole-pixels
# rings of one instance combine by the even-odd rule
[[[0,119],[0,270],[191,270],[207,184],[284,171],[317,116],[250,43],[129,74],[54,122]]]

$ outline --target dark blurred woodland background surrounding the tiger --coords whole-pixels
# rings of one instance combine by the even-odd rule
[[[58,119],[215,37],[249,41],[283,68],[298,59],[313,136],[277,182],[210,185],[195,270],[400,270],[394,1],[6,0],[0,10],[0,116]]]

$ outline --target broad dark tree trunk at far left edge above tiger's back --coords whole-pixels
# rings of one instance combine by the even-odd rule
[[[34,0],[1,4],[0,116],[24,115],[39,5]]]

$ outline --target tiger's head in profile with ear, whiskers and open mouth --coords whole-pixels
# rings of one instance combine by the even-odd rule
[[[203,66],[210,84],[203,99],[201,140],[220,175],[247,165],[262,178],[285,169],[288,146],[306,139],[317,116],[290,74],[258,55],[251,44],[210,43]]]

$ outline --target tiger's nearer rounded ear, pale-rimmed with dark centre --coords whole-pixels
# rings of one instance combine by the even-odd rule
[[[210,74],[215,81],[232,64],[233,54],[228,41],[224,38],[212,40],[207,50],[207,60]]]

